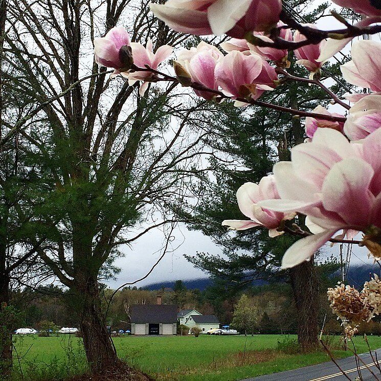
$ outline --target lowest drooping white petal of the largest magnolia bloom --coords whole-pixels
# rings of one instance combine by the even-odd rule
[[[295,267],[308,261],[326,243],[337,230],[325,230],[319,234],[312,234],[295,242],[284,254],[282,269]]]

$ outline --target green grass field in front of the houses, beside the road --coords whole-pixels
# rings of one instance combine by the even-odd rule
[[[242,378],[295,369],[329,361],[327,354],[284,354],[276,351],[280,335],[254,337],[122,337],[115,338],[121,358],[161,380],[235,381]],[[372,349],[381,348],[381,338],[369,337]],[[355,338],[358,353],[366,352],[362,338]],[[81,341],[68,336],[17,337],[19,361],[26,379],[59,379],[85,369]],[[336,357],[351,355],[334,351]],[[49,374],[46,374],[46,373]]]

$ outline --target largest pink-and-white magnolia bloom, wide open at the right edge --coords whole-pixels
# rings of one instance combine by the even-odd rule
[[[380,149],[381,129],[358,144],[339,131],[320,128],[312,142],[292,149],[291,162],[274,166],[281,199],[258,204],[281,213],[303,213],[317,233],[287,250],[283,268],[308,260],[340,230],[381,229]]]

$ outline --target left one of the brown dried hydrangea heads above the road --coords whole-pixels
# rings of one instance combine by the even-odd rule
[[[343,322],[361,323],[372,316],[364,304],[364,296],[351,286],[339,284],[335,288],[328,288],[327,295],[332,312]]]

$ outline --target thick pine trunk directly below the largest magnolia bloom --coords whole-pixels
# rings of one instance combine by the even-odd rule
[[[298,313],[298,343],[304,351],[318,347],[318,277],[313,257],[290,269],[294,302]]]

